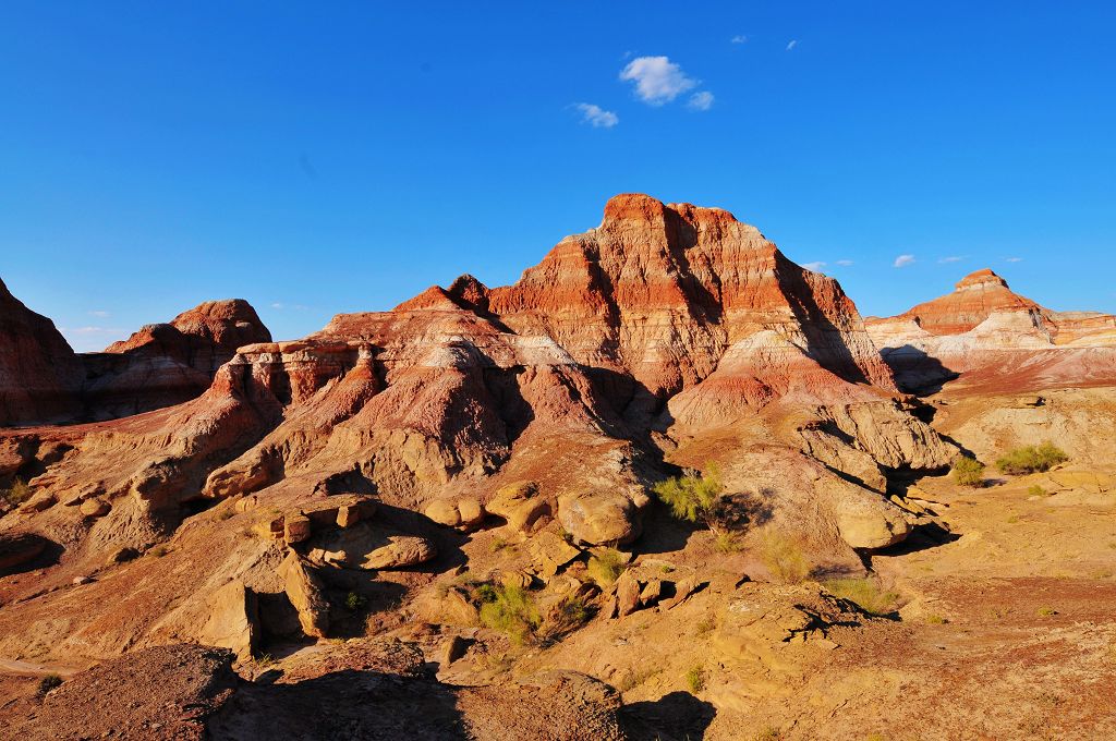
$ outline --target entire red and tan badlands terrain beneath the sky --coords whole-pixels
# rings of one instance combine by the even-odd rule
[[[1116,318],[947,288],[638,194],[290,341],[0,283],[0,738],[1116,738]]]

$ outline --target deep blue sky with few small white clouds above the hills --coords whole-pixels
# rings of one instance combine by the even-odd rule
[[[511,282],[639,191],[866,315],[981,267],[1116,311],[1114,31],[1099,1],[9,2],[0,277],[80,350],[229,297],[294,338]]]

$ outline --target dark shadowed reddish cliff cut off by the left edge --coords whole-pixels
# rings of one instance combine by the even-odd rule
[[[0,427],[69,417],[81,365],[50,319],[0,281]]]

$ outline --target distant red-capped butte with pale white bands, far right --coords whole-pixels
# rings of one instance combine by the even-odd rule
[[[867,329],[901,384],[934,391],[1022,392],[1116,382],[1116,317],[1059,312],[1019,296],[991,270],[952,293]]]

